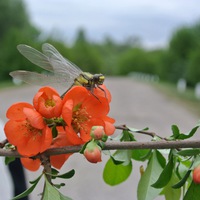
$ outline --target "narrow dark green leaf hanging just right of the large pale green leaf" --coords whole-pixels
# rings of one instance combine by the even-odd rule
[[[172,176],[173,166],[174,166],[173,160],[174,160],[174,158],[173,158],[173,156],[171,156],[169,162],[167,163],[164,170],[160,174],[158,180],[154,184],[152,184],[152,187],[163,188],[164,186],[166,186],[169,183],[171,176]]]

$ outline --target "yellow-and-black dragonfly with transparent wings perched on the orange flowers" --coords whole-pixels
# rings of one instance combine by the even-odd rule
[[[25,44],[18,45],[17,49],[30,62],[50,73],[16,70],[10,72],[14,79],[19,79],[31,85],[48,85],[61,90],[64,89],[65,93],[74,85],[83,86],[90,90],[92,94],[93,89],[96,87],[104,91],[100,87],[105,80],[103,74],[83,72],[74,63],[64,58],[51,44],[44,43],[42,45],[42,52]]]

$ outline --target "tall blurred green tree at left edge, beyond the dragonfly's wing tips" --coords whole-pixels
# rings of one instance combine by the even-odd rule
[[[20,43],[34,45],[39,31],[32,26],[21,0],[6,0],[0,2],[0,80],[9,78],[9,72],[15,69],[25,69],[33,66],[23,60],[16,49]]]

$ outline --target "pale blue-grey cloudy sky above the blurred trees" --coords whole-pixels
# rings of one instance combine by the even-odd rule
[[[200,20],[200,0],[25,0],[43,32],[73,40],[84,28],[89,39],[138,36],[147,47],[165,46],[173,31]]]

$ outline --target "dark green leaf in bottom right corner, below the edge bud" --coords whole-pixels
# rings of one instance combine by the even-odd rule
[[[200,184],[195,184],[193,181],[190,184],[183,200],[199,200],[200,198]]]

